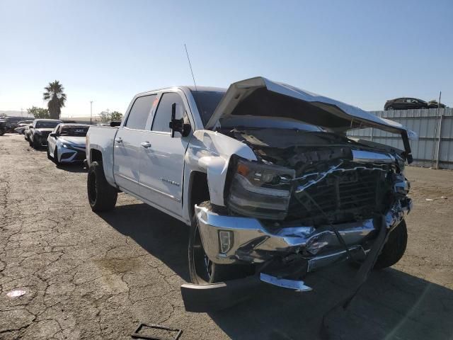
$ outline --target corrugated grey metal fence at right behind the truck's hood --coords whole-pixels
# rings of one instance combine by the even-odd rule
[[[429,110],[372,111],[374,115],[389,118],[418,135],[411,140],[413,165],[453,169],[453,108]],[[400,135],[367,128],[348,132],[351,137],[382,143],[404,149]]]

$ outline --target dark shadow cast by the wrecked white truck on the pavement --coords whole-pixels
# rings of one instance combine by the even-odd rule
[[[188,227],[145,204],[101,217],[188,281]],[[159,222],[156,222],[159,221]],[[248,302],[210,317],[232,339],[319,339],[323,316],[349,293],[347,263],[314,273],[309,293],[264,285]],[[328,339],[451,339],[453,290],[388,268],[373,272],[347,310],[326,315]]]

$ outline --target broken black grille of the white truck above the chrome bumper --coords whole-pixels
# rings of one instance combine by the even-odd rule
[[[287,218],[303,220],[311,225],[369,218],[374,212],[384,210],[388,191],[385,171],[357,169],[333,172],[302,193],[294,193]]]

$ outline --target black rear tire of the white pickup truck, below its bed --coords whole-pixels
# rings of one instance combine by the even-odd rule
[[[102,163],[92,162],[88,168],[86,181],[88,202],[94,212],[108,211],[115,208],[117,190],[105,179]]]

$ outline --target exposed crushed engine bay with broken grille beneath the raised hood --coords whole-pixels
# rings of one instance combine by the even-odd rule
[[[355,222],[382,214],[394,203],[394,175],[401,174],[404,163],[401,150],[324,131],[235,128],[222,133],[251,147],[258,163],[294,170],[291,180],[276,176],[269,182],[273,188],[279,181],[290,182],[290,197],[285,214],[262,215],[264,220],[313,226]],[[389,155],[391,162],[357,159],[357,150]],[[234,205],[229,197],[233,212],[248,215],[245,200]]]

